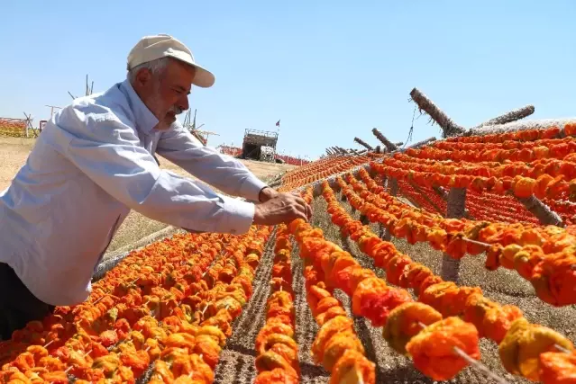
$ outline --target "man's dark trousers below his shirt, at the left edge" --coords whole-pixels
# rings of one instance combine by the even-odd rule
[[[32,295],[8,264],[0,263],[0,340],[10,340],[15,330],[42,320],[53,310]]]

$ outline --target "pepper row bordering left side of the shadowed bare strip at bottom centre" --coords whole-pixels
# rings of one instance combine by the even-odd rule
[[[155,322],[154,318],[149,318],[148,324],[142,322],[139,326],[145,330],[146,326],[150,326],[150,321],[152,328],[161,325],[159,328],[162,331],[160,337],[158,335],[155,337],[156,340],[160,340],[160,344],[149,344],[144,349],[145,352],[148,352],[151,346],[154,346],[155,352],[153,354],[157,356],[153,364],[150,382],[164,382],[164,379],[170,382],[175,379],[178,382],[212,382],[214,380],[213,370],[218,361],[218,355],[224,346],[226,337],[232,334],[230,323],[233,318],[239,316],[242,305],[251,292],[251,290],[245,291],[243,284],[238,285],[236,278],[242,276],[242,264],[244,263],[243,256],[238,255],[238,252],[243,255],[254,252],[254,250],[247,250],[254,248],[254,246],[247,248],[245,245],[252,241],[253,237],[246,237],[243,243],[228,247],[226,255],[216,260],[215,264],[208,270],[205,284],[200,290],[194,295],[181,299],[178,307],[172,308],[167,314],[169,317],[162,318],[158,323]],[[264,241],[261,242],[262,246],[263,244]],[[237,250],[238,247],[240,247],[240,251]],[[256,246],[256,248],[258,247]],[[260,253],[257,250],[255,252]],[[246,256],[245,260],[249,260],[250,255]],[[234,272],[230,270],[231,267],[235,267],[229,263],[233,260],[236,261],[241,270],[241,274],[236,274],[235,277]],[[254,258],[252,258],[253,260]],[[256,261],[258,261],[258,257]],[[231,283],[223,282],[230,281],[230,279],[232,279]],[[210,290],[207,288],[208,283],[206,281],[212,286]],[[233,288],[234,286],[237,287],[236,290],[226,288]],[[240,290],[242,290],[242,295],[239,296]],[[227,295],[230,296],[227,297]],[[212,300],[202,310],[200,310],[200,304],[204,301],[198,301],[199,296],[203,296],[205,299],[212,297]],[[208,308],[211,310],[206,314]],[[170,316],[172,313],[174,316]],[[158,326],[156,327],[158,328]],[[151,335],[155,334],[151,333]],[[152,358],[152,360],[154,359]],[[147,365],[143,365],[143,367],[145,368]]]

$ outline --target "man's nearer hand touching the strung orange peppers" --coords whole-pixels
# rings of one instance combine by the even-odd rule
[[[312,209],[297,193],[279,193],[276,197],[256,204],[254,224],[274,226],[294,219],[312,217]]]

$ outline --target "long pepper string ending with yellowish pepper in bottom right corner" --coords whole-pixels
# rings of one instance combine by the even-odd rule
[[[480,287],[458,287],[452,281],[443,281],[425,265],[414,263],[392,243],[381,240],[369,227],[352,219],[328,183],[323,184],[323,196],[334,224],[373,258],[376,266],[386,271],[389,283],[414,289],[418,301],[438,310],[444,317],[463,317],[473,324],[480,336],[498,344],[500,360],[508,372],[528,380],[545,380],[548,384],[555,383],[548,378],[567,371],[566,364],[551,362],[560,361],[557,355],[546,354],[576,353],[566,337],[548,327],[529,323],[515,306],[501,306],[485,298]]]

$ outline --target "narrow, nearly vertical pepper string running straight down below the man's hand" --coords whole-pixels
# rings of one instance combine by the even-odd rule
[[[292,246],[286,225],[276,228],[271,293],[266,303],[266,323],[256,336],[254,384],[299,382],[298,345],[295,335],[294,292],[290,254]]]

